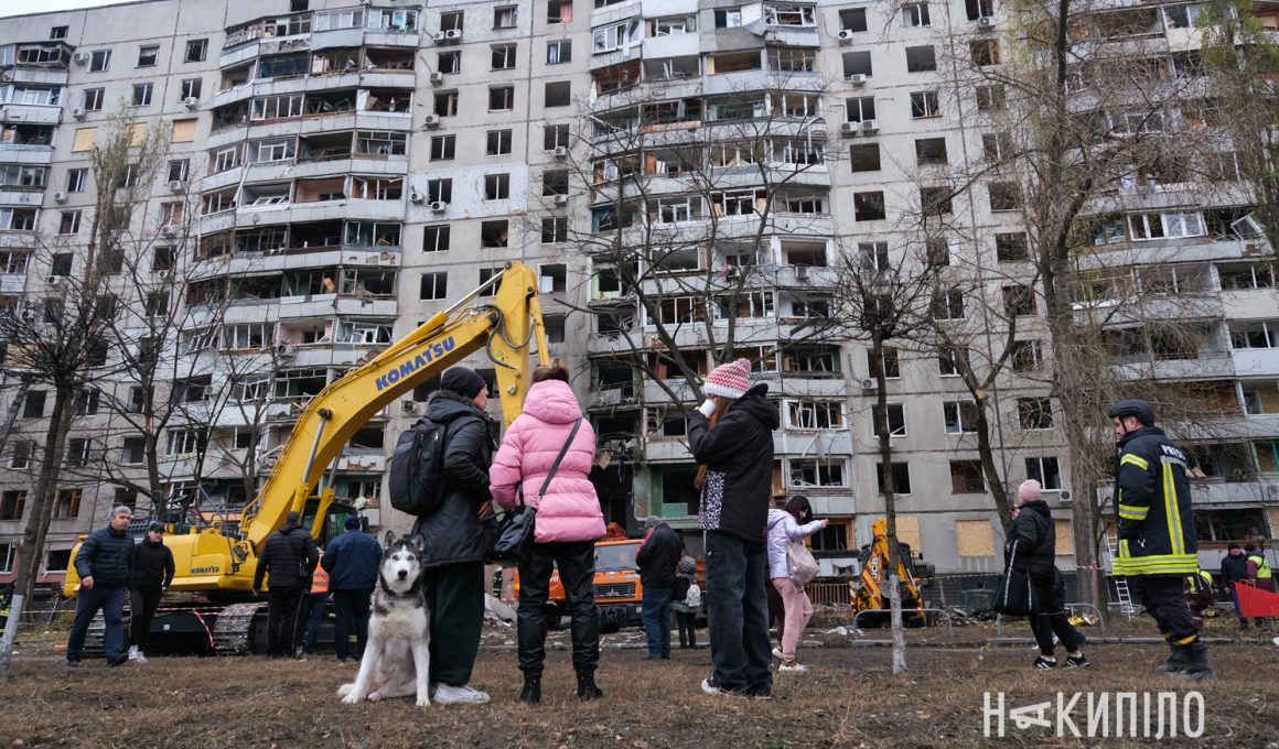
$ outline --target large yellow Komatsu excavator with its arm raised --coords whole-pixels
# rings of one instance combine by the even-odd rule
[[[261,619],[263,608],[252,602],[252,589],[266,537],[294,510],[321,544],[341,533],[345,516],[356,509],[335,502],[333,487],[321,486],[321,479],[347,441],[389,403],[481,348],[495,364],[503,423],[510,424],[532,383],[531,348],[536,345],[538,362],[547,360],[537,281],[528,266],[508,263],[458,303],[320,391],[298,415],[238,527],[215,525],[165,538],[177,565],[170,591],[198,593],[207,603],[179,612],[179,621],[157,617],[157,634],[203,633],[216,652],[249,651],[253,620]],[[491,299],[481,298],[494,286]],[[78,551],[77,543],[63,587],[67,596],[79,592]]]

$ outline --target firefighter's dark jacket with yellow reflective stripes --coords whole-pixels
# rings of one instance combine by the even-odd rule
[[[1159,427],[1119,441],[1115,481],[1119,515],[1117,575],[1195,575],[1198,546],[1186,454]]]

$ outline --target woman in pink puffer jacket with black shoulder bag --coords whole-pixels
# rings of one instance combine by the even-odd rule
[[[590,479],[595,464],[595,429],[582,417],[568,378],[568,368],[559,359],[533,371],[533,386],[524,399],[523,413],[506,429],[489,469],[490,491],[500,507],[509,510],[518,504],[519,486],[523,486],[524,501],[537,507],[533,550],[519,565],[519,670],[524,672],[519,699],[531,704],[541,702],[542,697],[546,598],[551,569],[556,565],[572,615],[577,695],[579,699],[604,695],[595,685],[595,670],[600,665],[595,542],[604,536],[604,513]],[[573,444],[538,500],[546,475],[578,422]]]

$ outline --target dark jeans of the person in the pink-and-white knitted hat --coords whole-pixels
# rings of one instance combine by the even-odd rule
[[[706,617],[711,663],[721,689],[773,691],[767,576],[762,541],[749,543],[720,530],[706,532]]]

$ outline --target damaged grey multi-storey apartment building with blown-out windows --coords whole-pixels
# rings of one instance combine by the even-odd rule
[[[1196,8],[1142,5],[1141,38],[1170,65],[1186,61]],[[188,405],[156,435],[166,502],[196,500],[202,520],[233,521],[298,405],[518,259],[540,268],[553,353],[570,363],[600,435],[609,520],[696,527],[683,376],[714,367],[732,331],[733,355],[752,359],[781,412],[775,492],[803,493],[831,519],[815,538],[825,574],[854,569],[883,514],[880,367],[903,541],[941,573],[995,571],[1001,530],[977,405],[953,357],[890,346],[871,362],[863,341],[828,325],[843,258],[898,263],[918,251],[952,266],[955,286],[934,312],[968,326],[976,366],[999,359],[1017,321],[986,394],[995,454],[1007,483],[1044,483],[1071,566],[1079,491],[1059,404],[1037,376],[1050,355],[1044,300],[1016,176],[991,169],[1012,143],[998,119],[1007,93],[973,74],[1013,58],[998,3],[150,0],[0,19],[0,31],[12,40],[0,47],[6,303],[81,271],[75,252],[36,248],[42,236],[87,242],[90,150],[109,115],[171,124],[143,199],[148,282],[183,285],[174,355],[187,368],[165,390]],[[1233,414],[1216,436],[1187,435],[1201,538],[1269,538],[1279,307],[1246,190],[1214,199],[1117,198],[1097,222],[1111,259],[1083,265],[1134,284],[1172,276],[1201,300],[1186,321],[1195,346],[1152,340],[1140,320],[1111,326],[1108,341]],[[1099,284],[1081,304],[1096,303]],[[492,378],[491,364],[475,366]],[[4,377],[0,582],[47,418],[40,382]],[[115,403],[136,387],[122,376],[98,385]],[[336,493],[372,500],[375,524],[408,525],[376,497],[394,437],[430,389],[384,410],[335,465]],[[113,475],[142,463],[129,419],[82,412],[70,451],[114,461]],[[75,534],[134,501],[84,472],[63,481],[50,579]]]

